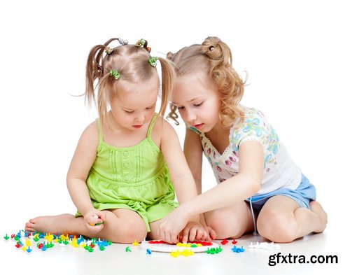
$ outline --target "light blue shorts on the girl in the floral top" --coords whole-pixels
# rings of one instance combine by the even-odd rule
[[[306,176],[302,174],[302,181],[300,185],[295,190],[289,188],[281,188],[279,190],[274,190],[267,194],[252,196],[246,199],[246,202],[251,202],[254,210],[262,209],[267,199],[276,195],[283,195],[294,199],[300,207],[306,207],[310,209],[309,202],[316,199],[316,188],[312,185]]]

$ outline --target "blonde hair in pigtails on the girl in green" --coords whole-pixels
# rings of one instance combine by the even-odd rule
[[[120,41],[120,38],[111,38],[103,45],[95,45],[87,57],[86,64],[86,87],[85,100],[88,103],[96,102],[99,118],[104,124],[108,122],[108,107],[111,100],[116,97],[119,90],[127,83],[142,83],[153,77],[159,76],[157,69],[148,62],[151,58],[146,50],[146,45],[118,45],[116,48],[109,48],[112,41]],[[167,59],[158,58],[162,68],[162,91],[160,116],[164,117],[174,79],[174,67]],[[110,71],[118,71],[120,79],[111,76]],[[96,87],[94,87],[97,82]]]

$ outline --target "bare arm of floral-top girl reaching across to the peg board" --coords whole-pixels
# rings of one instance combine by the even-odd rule
[[[260,189],[264,154],[260,143],[246,141],[239,147],[239,174],[216,185],[202,195],[184,202],[170,213],[164,223],[162,232],[169,232],[165,241],[176,239],[176,235],[186,225],[188,217],[230,206],[235,202],[251,197]]]

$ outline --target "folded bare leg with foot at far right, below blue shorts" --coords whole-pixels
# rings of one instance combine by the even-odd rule
[[[290,197],[274,196],[262,206],[257,221],[258,232],[279,243],[289,243],[311,232],[323,232],[327,214],[318,202],[311,202],[310,208],[300,207]]]

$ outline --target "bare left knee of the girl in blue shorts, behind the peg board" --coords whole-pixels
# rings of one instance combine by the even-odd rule
[[[209,211],[204,213],[204,218],[216,232],[217,239],[239,238],[254,230],[251,209],[246,202]]]

